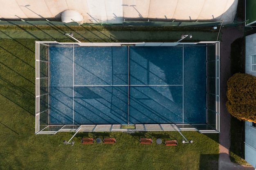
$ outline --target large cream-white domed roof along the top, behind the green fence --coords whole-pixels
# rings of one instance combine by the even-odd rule
[[[61,20],[74,10],[85,23],[122,23],[133,20],[221,21],[232,23],[238,0],[0,0],[0,18]]]

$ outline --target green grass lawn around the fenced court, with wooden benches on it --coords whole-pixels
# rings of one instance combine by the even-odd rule
[[[195,131],[185,131],[182,132],[183,135],[189,140],[193,139],[194,142],[193,144],[182,144],[183,138],[178,132],[136,132],[133,134],[79,132],[74,137],[74,146],[63,145],[62,142],[69,140],[74,134],[73,132],[35,135],[34,41],[38,39],[33,38],[34,34],[31,35],[29,29],[17,27],[6,29],[0,26],[2,33],[0,36],[1,38],[5,37],[0,39],[1,170],[91,170],[106,168],[111,170],[218,170],[218,134],[204,135]],[[10,30],[13,32],[11,33]],[[47,29],[45,30],[47,31]],[[51,36],[58,35],[60,30],[48,29],[48,35],[45,33],[46,31],[40,32],[36,28],[34,36],[39,37],[40,40],[54,40]],[[127,36],[129,35],[130,30],[122,31]],[[90,40],[102,40],[97,36],[102,33],[101,31],[89,33],[95,33]],[[141,31],[141,33],[144,34],[145,32]],[[113,41],[130,40],[127,37],[119,38],[118,36],[121,34],[117,31],[117,38]],[[144,35],[146,34],[148,33],[146,32]],[[159,34],[161,38],[162,33]],[[81,35],[84,36],[82,33]],[[26,36],[27,39],[24,39]],[[61,40],[61,36],[58,36],[58,40]],[[147,41],[154,39],[157,40],[157,35],[148,39],[145,38]],[[65,39],[65,41],[67,40],[68,38]],[[112,41],[108,38],[106,40]],[[92,135],[101,138],[115,137],[117,143],[81,144],[82,136],[91,137]],[[152,137],[153,144],[139,144],[139,137]],[[169,147],[164,144],[157,145],[155,142],[157,138],[176,138],[179,144]]]

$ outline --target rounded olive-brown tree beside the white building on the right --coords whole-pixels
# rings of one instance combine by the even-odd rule
[[[227,81],[227,110],[239,120],[256,123],[256,77],[236,73]]]

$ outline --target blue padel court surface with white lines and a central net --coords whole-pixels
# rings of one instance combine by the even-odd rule
[[[50,124],[205,124],[205,46],[50,46]]]

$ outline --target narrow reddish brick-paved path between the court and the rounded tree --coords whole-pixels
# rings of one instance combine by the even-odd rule
[[[231,77],[230,72],[230,45],[237,38],[243,37],[241,27],[223,27],[222,42],[220,45],[220,157],[219,170],[254,170],[252,166],[240,166],[232,163],[229,159],[230,146],[230,115],[225,103],[227,101],[227,80]]]

